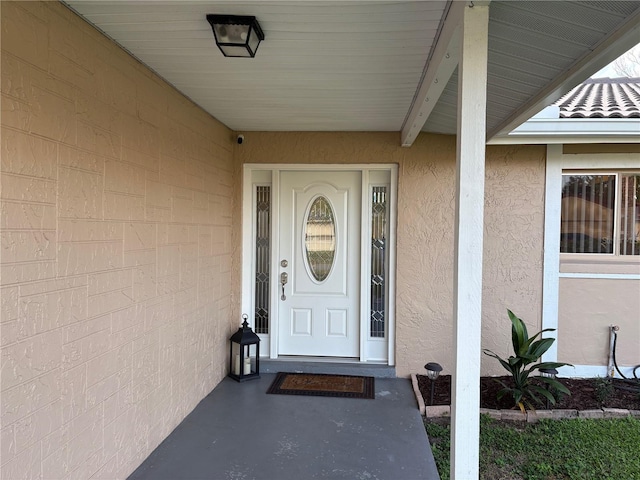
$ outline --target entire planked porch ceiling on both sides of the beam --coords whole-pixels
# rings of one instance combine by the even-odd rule
[[[456,131],[456,73],[433,69],[452,48],[437,45],[450,40],[457,2],[65,3],[233,130],[401,132],[420,118],[423,131]],[[256,57],[223,57],[208,13],[255,15],[266,37]],[[492,2],[488,135],[515,128],[638,43],[639,24],[635,0]],[[422,85],[434,78],[447,82],[442,94]],[[429,92],[439,100],[422,118]]]

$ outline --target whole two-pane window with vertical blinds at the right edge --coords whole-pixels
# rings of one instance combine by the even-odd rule
[[[563,173],[560,253],[640,255],[640,172]]]

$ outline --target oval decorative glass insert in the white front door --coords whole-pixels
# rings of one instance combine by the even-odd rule
[[[336,253],[335,216],[326,197],[313,201],[304,228],[307,265],[313,278],[322,282],[331,272]]]

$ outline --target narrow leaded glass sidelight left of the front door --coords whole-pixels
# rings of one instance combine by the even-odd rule
[[[255,332],[269,333],[271,187],[256,187]]]

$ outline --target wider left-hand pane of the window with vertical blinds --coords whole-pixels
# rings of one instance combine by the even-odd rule
[[[563,175],[560,252],[613,253],[615,175]]]

